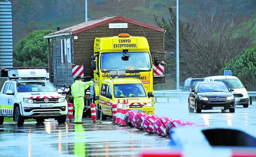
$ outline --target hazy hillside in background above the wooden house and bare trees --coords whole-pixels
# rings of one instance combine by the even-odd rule
[[[85,21],[85,0],[9,0],[13,7],[14,46],[27,33],[37,29],[55,29]],[[209,4],[210,2],[210,4]],[[176,0],[88,0],[88,18],[123,16],[155,25],[153,14],[169,18],[168,7],[176,8]],[[209,6],[236,11],[240,16],[256,12],[256,0],[179,0],[180,19],[197,19]]]

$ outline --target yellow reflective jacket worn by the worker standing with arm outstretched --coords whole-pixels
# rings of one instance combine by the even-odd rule
[[[93,84],[93,81],[82,82],[80,80],[75,80],[75,82],[71,86],[71,94],[74,98],[76,97],[84,97],[85,90]]]

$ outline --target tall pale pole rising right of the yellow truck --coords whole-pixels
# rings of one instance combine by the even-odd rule
[[[176,0],[176,89],[180,88],[180,58],[179,58],[179,20],[178,0]]]

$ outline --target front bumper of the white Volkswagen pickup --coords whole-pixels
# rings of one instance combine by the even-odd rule
[[[47,103],[51,105],[52,103]],[[41,117],[41,116],[60,116],[66,115],[68,112],[67,102],[53,103],[53,107],[41,108],[40,105],[43,104],[21,104],[22,115],[25,117]]]

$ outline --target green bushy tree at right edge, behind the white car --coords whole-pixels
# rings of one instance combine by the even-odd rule
[[[219,72],[223,75],[224,70],[232,70],[232,75],[238,77],[248,91],[256,90],[256,46],[245,49],[239,55],[229,60]]]

